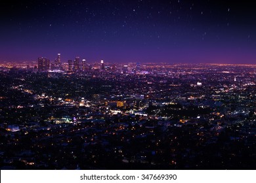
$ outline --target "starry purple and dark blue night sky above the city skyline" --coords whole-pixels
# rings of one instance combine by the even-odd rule
[[[253,1],[1,1],[0,61],[255,63]]]

